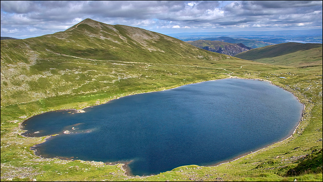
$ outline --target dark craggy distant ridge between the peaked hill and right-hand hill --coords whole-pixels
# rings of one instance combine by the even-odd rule
[[[195,41],[187,41],[198,48],[216,52],[220,54],[226,54],[229,56],[235,56],[236,54],[249,51],[252,48],[247,47],[243,43],[228,43],[217,40],[195,40]]]

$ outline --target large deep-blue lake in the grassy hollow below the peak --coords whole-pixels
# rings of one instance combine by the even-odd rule
[[[127,96],[85,113],[48,112],[23,126],[28,136],[59,134],[34,148],[43,157],[130,162],[132,174],[149,175],[215,164],[281,141],[302,109],[278,86],[230,78]]]

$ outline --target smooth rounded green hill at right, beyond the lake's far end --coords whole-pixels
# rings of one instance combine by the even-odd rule
[[[275,65],[297,67],[322,65],[322,44],[281,43],[243,52],[235,57]]]

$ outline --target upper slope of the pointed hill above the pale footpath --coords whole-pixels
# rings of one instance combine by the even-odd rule
[[[8,48],[36,50],[39,58],[61,54],[96,60],[182,63],[186,59],[198,62],[203,56],[208,60],[221,57],[163,34],[124,25],[107,25],[91,19],[85,19],[63,32],[5,42],[3,51]],[[21,54],[24,57],[25,53]]]

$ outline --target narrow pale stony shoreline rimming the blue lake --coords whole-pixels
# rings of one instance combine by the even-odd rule
[[[236,76],[230,76],[230,77],[228,77],[228,78],[233,78],[233,79],[252,79],[252,80],[259,80],[259,81],[267,81],[267,82],[270,82],[271,84],[273,84],[273,82],[272,82],[272,81],[270,81],[270,80],[264,80],[264,79],[261,79],[261,78],[240,78],[240,77],[236,77]],[[220,78],[220,79],[213,79],[213,80],[207,80],[207,81],[215,81],[215,80],[228,79],[228,78]],[[201,82],[206,82],[206,81],[201,81]],[[201,82],[196,82],[196,83],[201,83]],[[188,83],[188,84],[196,84],[196,83]],[[184,84],[184,85],[188,85],[188,84]],[[184,85],[180,85],[180,86],[184,86]],[[280,87],[280,88],[283,88],[283,87],[281,87],[281,86],[279,86],[279,85],[276,85],[276,84],[273,84],[273,85],[278,86],[278,87]],[[174,87],[174,88],[177,88],[177,87],[180,87],[180,86],[176,86],[176,87]],[[169,89],[174,89],[174,88],[169,88]],[[164,89],[164,90],[169,90],[169,89]],[[283,89],[284,89],[284,90],[286,90],[286,91],[287,91],[287,92],[289,92],[289,93],[292,93],[292,94],[294,95],[294,97],[296,97],[296,98],[297,98],[298,102],[299,102],[299,103],[301,103],[301,102],[300,102],[300,100],[299,100],[299,98],[298,98],[297,96],[295,96],[295,94],[294,94],[293,92],[290,92],[289,90],[287,90],[287,89],[285,89],[285,88],[283,88]],[[164,91],[164,90],[157,90],[157,91],[151,91],[151,92],[146,92],[146,93],[161,92],[161,91]],[[146,93],[139,93],[139,94],[146,94]],[[122,96],[122,97],[133,96],[133,95],[137,95],[137,94],[130,94],[130,95]],[[110,101],[113,101],[113,100],[116,100],[116,99],[120,99],[120,98],[122,98],[122,97],[118,97],[118,98],[111,99],[111,100],[106,101],[106,102],[104,102],[104,103],[100,103],[99,105],[101,105],[101,104],[106,104],[106,103],[108,103],[108,102],[110,102]],[[302,110],[302,116],[303,116],[303,113],[304,113],[304,110],[305,110],[305,105],[304,105],[303,103],[301,103],[301,104],[303,105],[303,110]],[[83,113],[83,112],[85,112],[83,109],[85,109],[85,108],[89,108],[89,107],[93,107],[93,106],[97,106],[97,105],[90,105],[90,106],[86,106],[86,107],[84,107],[84,108],[82,108],[82,109],[61,109],[61,110],[55,110],[55,111],[74,111],[74,113],[73,113],[73,114],[76,114],[76,113]],[[48,111],[48,112],[55,112],[55,111]],[[46,112],[43,112],[43,113],[46,113]],[[43,114],[43,113],[40,113],[40,114]],[[36,115],[39,115],[39,114],[36,114]],[[301,116],[301,117],[302,117],[302,116]],[[31,117],[33,117],[33,116],[31,116]],[[29,118],[31,118],[31,117],[26,118],[24,121],[28,120],[28,119],[29,119]],[[19,129],[21,129],[21,130],[23,130],[22,123],[23,123],[24,121],[22,121],[22,122],[20,122],[20,123],[19,123]],[[236,161],[236,160],[241,159],[241,158],[243,158],[243,157],[246,157],[246,156],[248,156],[248,155],[250,155],[250,154],[256,153],[256,152],[261,151],[261,150],[264,150],[264,149],[266,149],[266,148],[268,148],[268,147],[271,147],[271,146],[273,146],[273,145],[275,145],[275,144],[278,144],[278,143],[281,143],[281,142],[283,142],[283,141],[286,141],[286,140],[290,139],[290,138],[293,136],[293,134],[296,132],[297,128],[299,127],[300,123],[301,123],[301,120],[300,120],[300,121],[298,121],[298,124],[297,124],[297,126],[295,127],[294,131],[293,131],[291,134],[289,134],[289,135],[287,135],[287,136],[286,136],[287,138],[285,138],[285,137],[284,137],[282,140],[280,140],[280,141],[278,141],[278,142],[275,142],[275,143],[272,143],[272,144],[268,144],[268,145],[266,145],[265,147],[261,147],[261,148],[259,148],[259,149],[255,150],[255,151],[251,151],[250,153],[249,153],[249,152],[247,152],[247,153],[243,153],[243,154],[241,154],[241,155],[238,155],[238,156],[236,156],[236,157],[230,158],[230,159],[228,159],[228,160],[224,160],[224,161],[221,161],[221,162],[217,162],[217,163],[215,163],[215,164],[210,164],[210,165],[205,165],[205,166],[219,166],[219,165],[221,165],[221,164],[225,164],[225,163],[233,162],[233,161]],[[24,131],[26,131],[26,130],[24,130]],[[25,138],[30,138],[30,137],[32,137],[32,136],[25,136],[25,135],[23,135],[22,133],[20,133],[19,135],[22,135],[22,136],[24,136]],[[40,156],[40,155],[37,155],[37,154],[36,154],[37,152],[36,152],[35,150],[33,150],[32,148],[33,148],[33,147],[35,147],[35,146],[37,146],[37,145],[39,145],[39,144],[41,144],[41,143],[44,143],[44,142],[46,142],[46,141],[50,140],[50,139],[52,138],[52,136],[55,136],[55,135],[58,135],[58,134],[48,135],[48,136],[46,136],[46,138],[44,138],[44,140],[43,140],[42,142],[40,142],[40,143],[38,143],[38,144],[36,144],[36,145],[32,146],[30,149],[33,151],[34,155],[36,155],[36,156],[38,156],[38,157],[41,157],[41,158],[44,158],[44,157],[42,157],[42,156]],[[40,137],[39,137],[39,138],[40,138]],[[54,159],[56,159],[56,158],[54,158]],[[73,160],[73,159],[63,159],[63,158],[60,158],[60,159],[62,159],[62,160]],[[75,159],[74,159],[74,160],[75,160]],[[76,159],[76,160],[79,160],[79,159]],[[83,160],[81,160],[81,161],[83,161]],[[86,162],[86,161],[85,161],[85,162]],[[99,161],[98,161],[98,162],[99,162]],[[120,161],[119,161],[119,162],[120,162]],[[130,162],[122,162],[122,163],[119,163],[119,162],[110,162],[110,163],[109,163],[109,162],[106,162],[105,164],[106,164],[106,165],[118,165],[118,164],[122,164],[121,169],[122,169],[123,171],[125,171],[125,173],[124,173],[124,174],[125,174],[126,176],[129,176],[129,177],[134,177],[134,176],[135,176],[135,175],[131,174],[130,168],[129,168],[129,167],[127,167],[127,166],[128,166],[127,164],[129,164],[131,161],[130,161]],[[107,164],[107,163],[109,163],[109,164]],[[191,164],[191,165],[194,165],[194,164]],[[180,167],[180,166],[179,166],[179,167]],[[201,167],[203,167],[203,165],[202,165]],[[156,175],[156,174],[151,174],[151,175]],[[151,176],[151,175],[143,175],[142,177],[144,177],[144,176]]]

